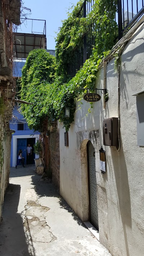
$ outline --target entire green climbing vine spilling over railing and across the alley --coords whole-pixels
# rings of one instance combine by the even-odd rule
[[[117,1],[95,0],[93,10],[86,18],[78,16],[83,0],[79,1],[68,19],[63,21],[56,39],[56,58],[46,50],[33,50],[22,69],[21,98],[33,105],[22,104],[22,113],[35,131],[44,131],[55,120],[63,122],[68,131],[74,120],[75,100],[81,99],[80,87],[94,86],[101,59],[109,53],[117,37],[115,13]],[[96,24],[95,46],[76,76],[67,74],[67,63],[73,50],[92,23]],[[106,95],[108,98],[108,95]],[[65,108],[70,107],[70,117]],[[93,107],[91,105],[91,107]],[[90,110],[89,110],[90,111]]]

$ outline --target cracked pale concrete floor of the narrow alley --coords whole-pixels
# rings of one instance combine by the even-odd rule
[[[3,256],[111,256],[35,166],[11,168],[0,224]]]

